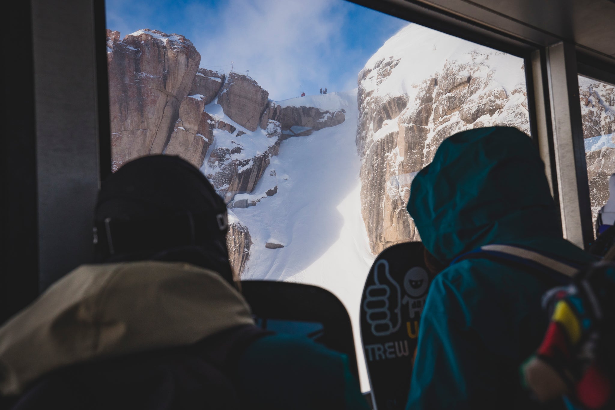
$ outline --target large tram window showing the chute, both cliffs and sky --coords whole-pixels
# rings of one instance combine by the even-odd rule
[[[419,240],[410,183],[442,141],[529,133],[522,58],[342,0],[107,0],[113,169],[185,158],[229,208],[242,280],[322,286],[349,311]]]

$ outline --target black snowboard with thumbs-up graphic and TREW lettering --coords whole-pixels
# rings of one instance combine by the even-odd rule
[[[361,298],[361,340],[375,410],[405,408],[429,275],[421,242],[393,245],[374,261]]]

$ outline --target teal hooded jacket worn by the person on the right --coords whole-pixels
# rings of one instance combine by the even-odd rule
[[[407,208],[426,249],[447,265],[491,243],[593,261],[563,239],[538,150],[512,127],[477,128],[443,141],[413,180]],[[531,406],[518,368],[546,331],[547,289],[530,272],[488,259],[443,270],[421,317],[406,408]]]

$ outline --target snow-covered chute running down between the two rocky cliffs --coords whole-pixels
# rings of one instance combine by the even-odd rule
[[[360,209],[360,160],[354,148],[356,98],[356,90],[301,98],[300,102],[309,99],[309,104],[323,109],[345,107],[346,121],[282,141],[253,191],[261,197],[271,187],[273,173],[276,194],[265,196],[254,207],[232,211],[253,241],[242,279],[310,283],[343,302],[351,316],[365,387],[359,305],[374,256]],[[267,243],[284,247],[266,248]]]

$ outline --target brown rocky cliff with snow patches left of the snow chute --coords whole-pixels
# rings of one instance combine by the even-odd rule
[[[263,181],[263,195],[252,192],[280,141],[345,119],[344,109],[282,108],[251,77],[199,68],[200,54],[179,34],[145,29],[120,40],[107,30],[107,61],[113,170],[140,156],[177,155],[200,168],[230,207],[276,194],[275,170]],[[252,240],[235,215],[227,242],[240,275]]]

